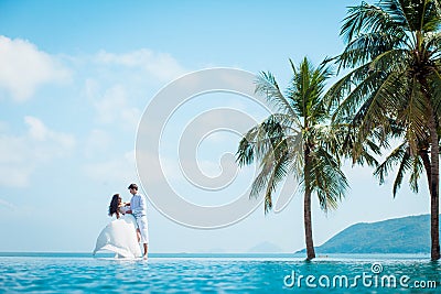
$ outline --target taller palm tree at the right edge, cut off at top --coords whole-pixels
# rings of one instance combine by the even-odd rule
[[[431,259],[439,246],[439,118],[441,115],[441,24],[435,0],[380,0],[348,10],[341,34],[344,52],[334,59],[340,68],[355,68],[329,91],[335,121],[352,118],[359,145],[373,132],[387,141],[391,122],[404,131],[408,154],[427,144],[426,162],[431,195]],[[352,156],[359,155],[354,148]],[[420,157],[422,160],[422,157]],[[416,159],[415,163],[417,163]]]

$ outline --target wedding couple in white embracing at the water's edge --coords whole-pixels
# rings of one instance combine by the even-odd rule
[[[130,184],[130,203],[122,203],[115,194],[109,206],[109,216],[116,216],[99,233],[94,255],[97,251],[111,251],[121,258],[140,258],[147,260],[149,231],[147,226],[147,200],[138,193],[137,184]],[[143,246],[143,253],[139,243]]]

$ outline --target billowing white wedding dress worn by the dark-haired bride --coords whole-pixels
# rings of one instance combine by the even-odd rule
[[[94,255],[98,251],[110,251],[118,258],[141,258],[141,248],[137,238],[137,221],[130,214],[112,220],[99,233]]]

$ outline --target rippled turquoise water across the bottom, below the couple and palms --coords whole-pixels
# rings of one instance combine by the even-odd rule
[[[276,254],[152,254],[144,262],[0,253],[0,293],[441,293],[440,282],[440,262],[412,255],[305,262]]]

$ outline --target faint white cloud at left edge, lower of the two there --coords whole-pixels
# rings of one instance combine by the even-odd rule
[[[0,133],[0,186],[24,187],[40,164],[71,154],[75,138],[49,129],[40,119],[25,117],[28,132]]]

